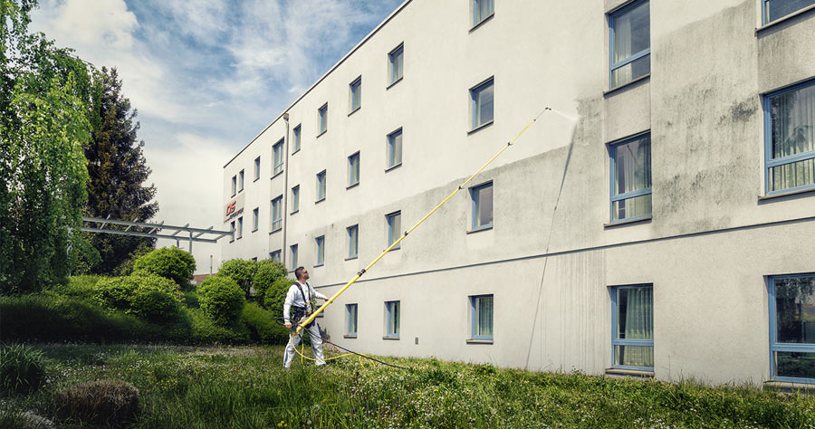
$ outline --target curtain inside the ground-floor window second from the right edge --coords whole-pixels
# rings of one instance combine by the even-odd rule
[[[651,288],[622,289],[620,300],[625,297],[623,337],[626,339],[654,339],[654,291]],[[624,347],[620,363],[635,367],[654,366],[654,348]]]

